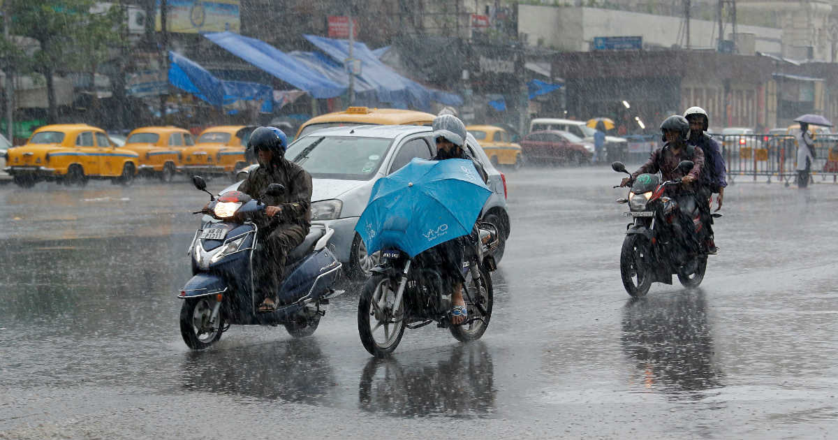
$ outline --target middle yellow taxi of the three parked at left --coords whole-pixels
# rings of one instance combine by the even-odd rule
[[[194,144],[192,133],[183,128],[141,127],[128,133],[122,148],[140,155],[140,175],[171,182],[184,148]]]

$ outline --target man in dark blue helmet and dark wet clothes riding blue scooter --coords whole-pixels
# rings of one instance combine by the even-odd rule
[[[248,148],[259,168],[251,171],[239,190],[267,206],[266,220],[257,223],[260,246],[254,252],[254,287],[260,312],[277,308],[277,290],[284,277],[288,252],[303,243],[311,227],[312,177],[285,158],[287,137],[276,127],[258,127]],[[270,184],[282,184],[281,195],[267,195]]]

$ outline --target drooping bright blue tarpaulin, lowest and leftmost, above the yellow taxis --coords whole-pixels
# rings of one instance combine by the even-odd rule
[[[168,60],[168,81],[213,106],[232,106],[237,101],[262,101],[260,111],[273,111],[273,89],[268,85],[219,80],[193,60],[171,51]]]

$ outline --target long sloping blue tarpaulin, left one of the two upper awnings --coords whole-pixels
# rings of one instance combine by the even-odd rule
[[[334,98],[343,95],[346,91],[346,85],[328,80],[317,71],[308,68],[307,65],[259,39],[243,37],[232,32],[209,33],[204,34],[204,37],[220,45],[230,54],[265,70],[297,89],[308,91],[315,98]]]

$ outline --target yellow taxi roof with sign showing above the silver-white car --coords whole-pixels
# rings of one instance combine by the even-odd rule
[[[344,111],[335,111],[314,116],[297,130],[297,137],[329,127],[354,125],[425,125],[433,122],[431,113],[424,111],[399,110],[394,108],[349,107]]]

